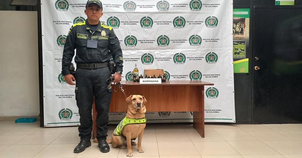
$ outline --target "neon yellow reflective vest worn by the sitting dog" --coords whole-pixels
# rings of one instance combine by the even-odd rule
[[[122,134],[122,130],[123,128],[126,126],[126,125],[129,125],[129,124],[143,124],[143,123],[146,123],[147,119],[144,117],[142,119],[130,119],[130,118],[127,118],[125,117],[124,119],[122,119],[120,121],[120,123],[117,125],[117,127],[114,129],[114,132],[113,134],[114,135],[118,135],[118,136],[121,136],[123,137],[124,139],[126,139],[126,137]],[[134,139],[131,139],[131,140],[135,140],[136,138]]]

